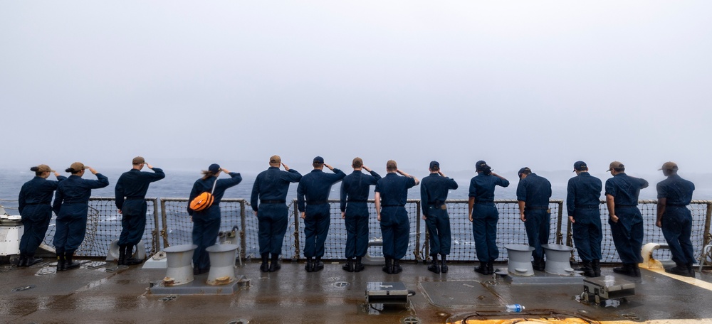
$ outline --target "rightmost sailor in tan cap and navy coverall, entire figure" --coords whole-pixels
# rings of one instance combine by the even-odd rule
[[[657,185],[658,212],[655,225],[661,227],[663,236],[668,242],[673,268],[666,272],[680,276],[695,277],[695,251],[690,236],[692,234],[692,213],[687,207],[692,200],[695,185],[677,175],[677,164],[666,162],[662,168],[667,179]]]

